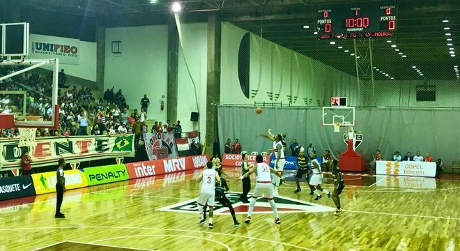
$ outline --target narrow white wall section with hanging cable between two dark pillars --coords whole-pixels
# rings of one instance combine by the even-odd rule
[[[181,24],[181,43],[178,55],[178,100],[177,119],[181,121],[183,132],[200,129],[202,139],[206,135],[206,79],[207,79],[207,24]],[[197,86],[197,101],[192,79]],[[190,121],[190,113],[199,112],[199,122]],[[173,121],[171,121],[173,122]]]

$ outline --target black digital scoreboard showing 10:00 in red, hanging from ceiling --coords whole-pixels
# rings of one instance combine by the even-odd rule
[[[394,36],[397,10],[394,4],[351,3],[318,10],[319,39]]]

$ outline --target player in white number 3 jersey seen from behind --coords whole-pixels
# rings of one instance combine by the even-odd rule
[[[204,223],[203,206],[209,206],[209,228],[214,228],[213,226],[213,206],[214,206],[214,197],[215,197],[215,183],[220,183],[220,177],[217,171],[213,169],[213,162],[208,161],[206,163],[208,169],[203,170],[199,174],[198,182],[201,183],[201,192],[197,199],[198,211],[200,214],[200,224]]]

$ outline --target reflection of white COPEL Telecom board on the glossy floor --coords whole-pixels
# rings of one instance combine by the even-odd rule
[[[385,188],[436,189],[436,178],[377,176],[377,186]]]

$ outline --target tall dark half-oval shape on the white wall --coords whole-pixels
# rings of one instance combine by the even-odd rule
[[[240,50],[238,51],[238,79],[240,87],[246,98],[249,98],[249,76],[250,75],[250,33],[247,32],[241,38]]]

